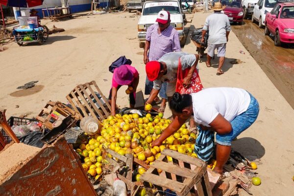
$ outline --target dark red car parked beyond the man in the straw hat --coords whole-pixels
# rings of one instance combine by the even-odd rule
[[[230,22],[243,23],[243,8],[240,0],[222,0],[222,5],[226,7],[222,10],[229,17]]]

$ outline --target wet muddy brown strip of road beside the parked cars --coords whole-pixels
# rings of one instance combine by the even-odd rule
[[[294,44],[275,46],[273,36],[265,36],[264,28],[260,29],[251,20],[244,20],[243,25],[231,25],[231,27],[240,42],[294,109]]]

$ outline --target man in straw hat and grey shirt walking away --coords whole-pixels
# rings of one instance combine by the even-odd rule
[[[221,67],[224,63],[226,43],[229,40],[228,37],[231,31],[228,16],[221,13],[221,10],[224,8],[225,6],[222,6],[220,2],[214,4],[214,13],[206,18],[201,39],[201,42],[203,42],[205,33],[209,30],[206,66],[211,66],[211,58],[214,57],[215,49],[218,49],[218,57],[220,57],[220,60],[217,75],[224,73]]]

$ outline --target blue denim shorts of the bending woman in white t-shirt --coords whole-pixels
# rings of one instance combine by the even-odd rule
[[[248,92],[249,93],[249,92]],[[231,146],[231,142],[240,133],[248,129],[256,120],[259,113],[259,104],[257,100],[249,93],[250,104],[248,109],[242,114],[236,116],[230,123],[232,125],[232,131],[227,134],[216,134],[217,143],[224,146]]]

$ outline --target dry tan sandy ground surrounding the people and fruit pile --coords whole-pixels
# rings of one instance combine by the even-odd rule
[[[191,28],[201,27],[207,16],[196,13]],[[7,116],[30,113],[31,117],[49,100],[67,102],[65,96],[73,87],[91,80],[96,80],[107,96],[112,76],[108,66],[121,55],[133,61],[132,65],[140,73],[139,87],[144,89],[143,49],[138,47],[136,39],[138,17],[133,13],[116,13],[49,22],[49,28],[55,24],[66,31],[50,36],[44,45],[9,44],[8,50],[0,53],[0,109],[8,109]],[[183,51],[196,51],[189,38]],[[212,67],[205,66],[205,59],[200,60],[199,75],[204,87],[242,87],[260,103],[256,123],[238,136],[232,146],[243,155],[260,158],[263,163],[257,170],[262,184],[251,191],[254,196],[291,196],[294,193],[294,111],[233,32],[226,57],[223,75],[216,75],[217,58],[212,61]],[[30,92],[15,92],[17,87],[35,80],[39,86]],[[118,104],[122,107],[128,103],[125,89],[118,93]],[[171,116],[168,107],[165,116]],[[238,195],[248,194],[241,190]]]

